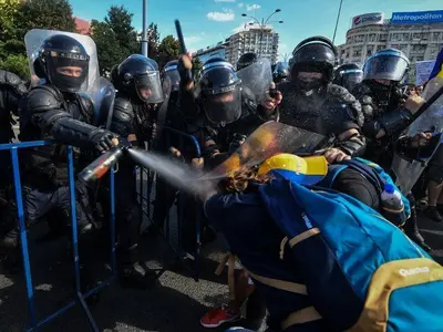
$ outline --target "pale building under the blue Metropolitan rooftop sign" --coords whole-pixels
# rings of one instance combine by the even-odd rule
[[[341,63],[364,63],[387,48],[403,51],[412,64],[435,60],[443,48],[443,11],[394,12],[390,20],[382,12],[356,17],[346,44],[338,46],[339,59]]]

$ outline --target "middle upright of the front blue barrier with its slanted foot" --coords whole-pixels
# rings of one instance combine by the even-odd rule
[[[75,210],[75,181],[74,181],[74,166],[73,166],[73,153],[72,147],[68,146],[68,172],[69,172],[69,189],[70,189],[70,203],[71,203],[71,224],[72,224],[72,252],[74,258],[74,271],[75,271],[75,294],[78,301],[83,308],[84,313],[90,321],[91,329],[94,332],[99,332],[99,328],[84,301],[81,286],[80,286],[80,259],[79,259],[79,236],[76,227],[76,210]]]

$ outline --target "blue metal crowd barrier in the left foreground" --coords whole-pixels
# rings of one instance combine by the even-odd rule
[[[76,303],[79,303],[84,313],[87,317],[91,329],[93,331],[100,331],[94,318],[91,314],[91,311],[87,308],[85,300],[92,294],[99,292],[104,287],[106,287],[112,279],[115,277],[115,200],[114,200],[114,173],[111,172],[110,176],[110,199],[111,199],[111,215],[110,215],[110,234],[111,234],[111,269],[112,276],[95,287],[94,289],[89,290],[86,293],[82,293],[81,283],[80,283],[80,259],[79,259],[79,238],[78,238],[78,225],[76,225],[76,210],[75,210],[75,181],[74,181],[74,164],[73,164],[73,151],[71,146],[68,146],[68,174],[69,174],[69,189],[70,189],[70,203],[71,203],[71,225],[72,225],[72,250],[73,250],[73,260],[74,260],[74,278],[75,278],[75,297],[76,299],[65,304],[60,310],[53,312],[48,315],[43,320],[38,321],[35,317],[35,304],[34,304],[34,289],[32,284],[32,274],[31,274],[31,264],[29,259],[29,250],[28,250],[28,238],[27,238],[27,228],[24,222],[24,209],[23,209],[23,197],[21,191],[21,178],[20,178],[20,165],[19,165],[19,154],[18,151],[20,148],[30,148],[37,146],[45,146],[51,145],[53,142],[50,141],[35,141],[35,142],[24,142],[17,144],[0,144],[0,151],[10,151],[11,152],[11,160],[12,160],[12,172],[13,172],[13,184],[16,188],[16,201],[18,207],[18,220],[19,220],[19,230],[20,230],[20,242],[21,242],[21,252],[23,258],[23,267],[24,267],[24,278],[28,293],[28,308],[30,314],[30,328],[27,331],[37,331],[40,326],[45,324],[49,321],[52,321],[54,318],[59,317],[61,313],[71,309]]]

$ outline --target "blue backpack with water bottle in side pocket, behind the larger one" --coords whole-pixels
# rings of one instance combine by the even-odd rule
[[[411,217],[411,205],[406,197],[401,193],[401,190],[396,187],[395,183],[392,180],[391,176],[384,172],[382,167],[379,165],[369,162],[363,158],[353,158],[351,160],[343,160],[338,164],[333,164],[328,167],[328,174],[326,177],[318,184],[319,187],[332,188],[333,183],[340,172],[352,168],[359,172],[362,176],[364,176],[375,188],[379,197],[384,190],[384,186],[390,184],[396,188],[396,190],[401,194],[402,201],[404,205],[404,211],[398,216],[391,216],[385,214],[384,217],[388,218],[391,222],[396,226],[402,226],[404,222]]]

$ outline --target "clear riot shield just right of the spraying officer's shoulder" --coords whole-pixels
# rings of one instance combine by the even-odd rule
[[[105,77],[99,77],[89,90],[89,95],[94,104],[93,125],[109,129],[114,111],[114,85]]]

